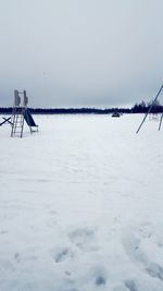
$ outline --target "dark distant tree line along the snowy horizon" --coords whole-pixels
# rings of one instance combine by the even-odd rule
[[[118,113],[146,113],[148,112],[151,104],[146,104],[141,101],[136,104],[131,108],[29,108],[30,112],[34,114],[110,114],[114,112]],[[150,111],[151,113],[163,112],[163,106],[156,101]],[[11,114],[12,107],[1,107],[0,113]]]

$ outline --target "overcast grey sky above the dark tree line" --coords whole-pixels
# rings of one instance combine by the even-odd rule
[[[0,106],[149,101],[163,82],[162,0],[0,0]]]

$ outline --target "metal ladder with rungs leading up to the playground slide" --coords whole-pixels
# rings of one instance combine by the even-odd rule
[[[25,107],[13,107],[11,136],[23,137]]]

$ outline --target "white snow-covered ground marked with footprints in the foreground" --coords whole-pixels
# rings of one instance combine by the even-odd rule
[[[163,130],[34,118],[0,128],[0,291],[162,291]]]

